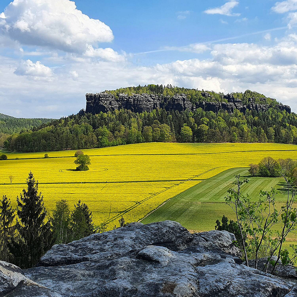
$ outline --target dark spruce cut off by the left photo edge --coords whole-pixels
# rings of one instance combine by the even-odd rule
[[[10,204],[10,199],[3,196],[0,201],[0,260],[11,262],[9,243],[13,237],[15,226],[15,209]]]

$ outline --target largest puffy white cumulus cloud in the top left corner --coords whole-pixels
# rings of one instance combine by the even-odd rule
[[[1,13],[0,30],[24,45],[75,53],[113,40],[109,26],[89,18],[69,0],[14,0]]]

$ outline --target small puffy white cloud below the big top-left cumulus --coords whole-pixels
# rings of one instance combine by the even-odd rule
[[[20,66],[15,69],[16,75],[31,76],[34,79],[48,79],[53,76],[52,70],[41,64],[40,61],[33,63],[31,60],[24,61]]]

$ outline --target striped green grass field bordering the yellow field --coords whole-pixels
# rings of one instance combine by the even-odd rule
[[[232,209],[225,205],[224,197],[227,190],[233,187],[234,175],[241,174],[249,178],[249,183],[242,187],[244,193],[249,193],[251,198],[258,198],[260,190],[278,190],[277,205],[286,200],[286,192],[282,188],[283,178],[251,177],[247,168],[233,168],[219,173],[200,184],[187,189],[181,194],[168,200],[148,217],[143,223],[175,220],[190,230],[213,230],[217,219],[225,214],[230,219],[236,219]],[[293,239],[295,236],[290,236]]]

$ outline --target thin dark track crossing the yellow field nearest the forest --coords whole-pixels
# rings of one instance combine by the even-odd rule
[[[248,150],[248,151],[220,151],[213,153],[168,153],[168,154],[107,154],[107,155],[88,155],[89,157],[116,157],[116,156],[191,156],[191,155],[213,155],[213,154],[232,154],[232,153],[249,153],[249,152],[277,152],[277,151],[297,151],[297,149],[287,149],[287,150]],[[60,157],[48,157],[46,159],[55,159],[55,158],[75,158],[75,156],[60,156]],[[12,158],[8,160],[30,160],[30,159],[45,159],[44,157],[36,158]]]

